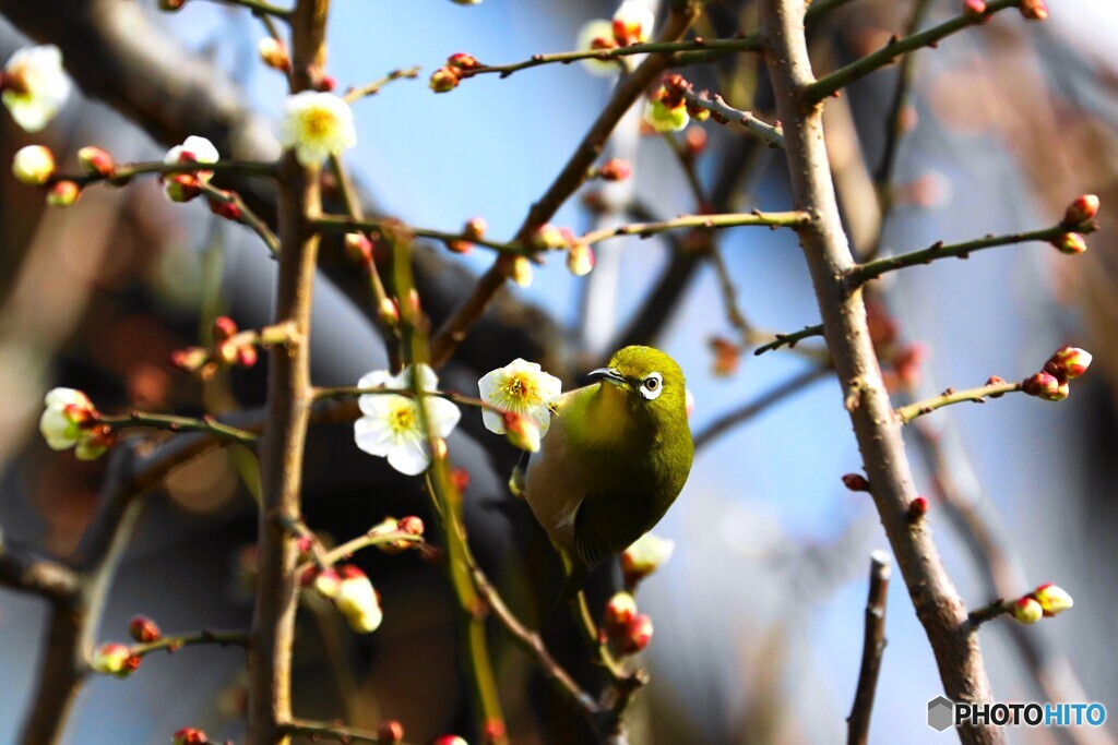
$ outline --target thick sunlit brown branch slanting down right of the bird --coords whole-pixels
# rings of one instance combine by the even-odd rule
[[[893,417],[870,341],[865,307],[844,280],[854,261],[831,180],[822,112],[815,105],[821,88],[812,87],[802,4],[765,0],[761,25],[769,38],[766,61],[784,123],[793,191],[797,206],[812,214],[812,222],[799,230],[800,242],[881,522],[928,633],[945,693],[955,700],[988,703],[993,698],[989,682],[978,639],[966,621],[966,606],[944,569],[927,520],[911,524],[908,519],[908,505],[917,493],[900,422]],[[964,726],[959,736],[965,743],[1003,742],[1002,730],[993,726]]]

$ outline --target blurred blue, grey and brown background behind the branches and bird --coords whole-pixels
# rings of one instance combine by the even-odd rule
[[[222,156],[278,153],[274,121],[285,84],[259,64],[263,31],[248,13],[195,0],[173,15],[138,0],[53,4],[46,11],[31,0],[0,0],[0,57],[28,38],[58,44],[82,93],[39,135],[0,117],[0,162],[29,143],[50,146],[70,171],[87,144],[119,162],[155,160],[189,134],[210,137]],[[916,7],[920,27],[958,11],[954,1]],[[575,0],[476,7],[337,0],[329,69],[342,88],[423,67],[420,79],[394,83],[354,105],[358,146],[348,162],[369,209],[447,231],[480,216],[491,236],[511,237],[615,79],[557,65],[508,79],[477,77],[440,96],[424,80],[456,51],[499,64],[571,49],[587,20],[615,9]],[[880,47],[912,23],[913,9],[854,0],[830,12],[809,29],[816,66],[833,68]],[[882,280],[871,302],[898,401],[980,385],[989,375],[1024,378],[1063,344],[1095,354],[1090,373],[1059,407],[1011,395],[938,412],[907,434],[937,543],[968,605],[1043,582],[1076,599],[1072,611],[1035,627],[1002,619],[983,628],[995,697],[1063,697],[1118,711],[1109,653],[1118,618],[1110,539],[1118,523],[1118,246],[1110,209],[1118,203],[1118,9],[1105,0],[1057,0],[1051,11],[1048,21],[1026,23],[1010,10],[919,52],[911,95],[899,107],[899,69],[870,76],[828,102],[826,125],[859,251],[880,243],[882,252],[902,252],[1042,228],[1080,193],[1101,198],[1101,230],[1082,256],[1040,243],[984,251]],[[712,0],[698,32],[727,37],[752,28],[755,3]],[[771,111],[752,56],[683,74],[738,108]],[[692,125],[705,135],[702,151],[681,157],[702,135],[689,131],[669,142],[644,134],[638,109],[609,150],[632,161],[633,178],[587,184],[557,225],[582,232],[694,212],[700,202],[717,211],[792,207],[780,154],[707,122]],[[892,109],[902,132],[887,159]],[[884,160],[892,166],[883,168]],[[229,314],[243,327],[265,323],[274,265],[243,227],[159,192],[155,180],[138,179],[126,189],[88,189],[75,207],[47,212],[40,192],[0,176],[4,538],[65,556],[97,505],[104,461],[53,452],[37,432],[48,389],[79,388],[106,412],[219,414],[263,402],[263,364],[202,385],[167,360],[173,350],[206,343],[216,315]],[[246,198],[272,217],[272,194]],[[574,388],[617,346],[644,342],[681,362],[694,395],[693,432],[770,401],[702,440],[683,495],[656,529],[676,548],[638,595],[655,638],[642,656],[653,682],[634,705],[633,742],[843,739],[862,653],[869,555],[888,543],[869,497],[840,481],[861,464],[837,385],[812,374],[817,340],[796,351],[750,352],[766,333],[818,321],[795,237],[739,228],[616,240],[596,250],[598,266],[587,278],[551,260],[530,288],[506,293],[440,372],[443,385],[473,393],[482,374],[522,356]],[[481,249],[464,257],[440,246],[418,249],[424,307],[436,325],[491,258]],[[364,293],[340,246],[328,245],[314,313],[316,384],[353,384],[387,366]],[[471,542],[518,612],[536,619],[555,580],[549,550],[504,486],[517,453],[474,413],[465,412],[449,440],[455,462],[472,476]],[[386,515],[425,515],[418,485],[360,452],[350,426],[313,428],[307,453],[304,505],[315,529],[344,541]],[[146,502],[98,640],[124,640],[134,613],[164,630],[246,624],[243,575],[255,488],[253,457],[237,448],[212,450],[176,471]],[[471,733],[442,572],[413,553],[375,553],[358,557],[382,598],[386,619],[375,634],[356,638],[337,614],[301,611],[296,715],[371,728],[396,718],[417,743]],[[599,574],[591,595],[603,602],[616,567]],[[46,611],[41,601],[0,588],[0,742],[16,742],[29,706]],[[562,620],[546,632],[580,680],[601,685]],[[941,686],[899,575],[887,633],[871,742],[946,742],[954,735],[925,724],[927,701]],[[512,741],[586,741],[577,717],[520,651],[498,629],[492,638]],[[186,725],[238,739],[241,666],[236,650],[197,648],[153,657],[125,680],[96,677],[66,742],[164,743]],[[1112,730],[1021,728],[1008,739],[1109,743]]]

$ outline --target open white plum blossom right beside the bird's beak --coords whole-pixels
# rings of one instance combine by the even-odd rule
[[[485,403],[527,417],[543,437],[551,426],[551,407],[562,393],[562,381],[543,372],[539,364],[518,357],[486,373],[477,381],[477,390]],[[505,433],[505,419],[496,411],[482,410],[482,421],[489,431]]]

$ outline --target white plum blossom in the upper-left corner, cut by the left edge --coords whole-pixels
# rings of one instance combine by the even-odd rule
[[[39,132],[58,115],[70,94],[63,52],[53,44],[26,47],[3,69],[3,105],[27,132]]]

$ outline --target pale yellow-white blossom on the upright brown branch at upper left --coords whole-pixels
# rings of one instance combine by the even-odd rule
[[[332,93],[296,93],[287,97],[280,141],[301,164],[318,165],[357,144],[353,113]]]

